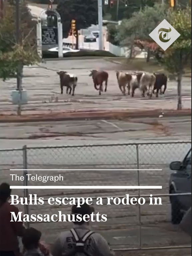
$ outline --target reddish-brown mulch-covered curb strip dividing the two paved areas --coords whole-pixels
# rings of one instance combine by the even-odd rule
[[[69,120],[97,120],[97,119],[117,119],[127,118],[160,118],[161,117],[191,117],[191,109],[184,110],[145,110],[145,111],[92,111],[92,112],[61,112],[50,114],[22,115],[0,115],[0,123],[21,123],[21,122],[51,122]]]

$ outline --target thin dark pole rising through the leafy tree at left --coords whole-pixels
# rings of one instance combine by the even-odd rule
[[[16,43],[20,45],[20,3],[16,0]],[[19,91],[19,103],[17,114],[21,115],[21,102],[22,102],[22,88],[21,88],[21,64],[17,66],[17,90]]]

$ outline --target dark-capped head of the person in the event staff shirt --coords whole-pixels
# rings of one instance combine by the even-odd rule
[[[71,213],[72,214],[75,214],[75,215],[78,215],[80,214],[83,218],[84,215],[91,215],[93,212],[95,211],[94,207],[92,206],[89,206],[88,204],[84,203],[81,205],[81,207],[77,207],[77,205],[73,205],[72,208],[71,208]],[[89,224],[89,221],[88,222],[85,222],[84,220],[82,220],[81,222],[79,221],[75,221],[74,222],[75,224],[77,225],[83,225],[83,224]]]

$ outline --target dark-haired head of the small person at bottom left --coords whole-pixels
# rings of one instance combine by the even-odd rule
[[[26,250],[37,249],[41,239],[41,232],[35,228],[24,230],[22,243]]]

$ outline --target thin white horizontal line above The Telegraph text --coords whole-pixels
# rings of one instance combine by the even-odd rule
[[[10,171],[162,171],[162,169],[9,169]]]

